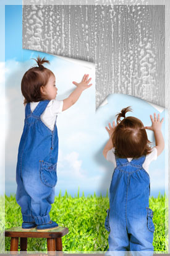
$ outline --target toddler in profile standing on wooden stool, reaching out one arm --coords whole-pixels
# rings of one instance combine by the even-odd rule
[[[80,83],[73,82],[77,88],[67,99],[56,100],[55,76],[43,66],[49,61],[38,56],[36,63],[38,66],[28,69],[21,84],[27,105],[17,157],[16,201],[21,207],[22,229],[36,227],[41,231],[58,226],[49,216],[57,182],[57,113],[71,107],[92,84],[85,74]],[[33,112],[31,103],[36,104]]]

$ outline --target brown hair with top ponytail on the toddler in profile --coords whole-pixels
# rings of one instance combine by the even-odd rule
[[[35,60],[38,66],[30,68],[25,72],[21,81],[21,91],[23,94],[24,102],[38,102],[40,100],[45,100],[45,97],[41,95],[40,87],[46,86],[48,79],[53,74],[51,70],[43,66],[44,63],[48,63],[48,60],[45,60],[45,57],[42,59],[38,56]],[[53,74],[54,75],[54,74]]]

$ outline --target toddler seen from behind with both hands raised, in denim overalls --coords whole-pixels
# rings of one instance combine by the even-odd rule
[[[109,188],[105,227],[109,231],[106,255],[153,255],[153,211],[149,208],[150,176],[148,166],[164,149],[160,121],[150,115],[152,125],[143,126],[135,117],[125,117],[130,107],[117,114],[117,126],[109,123],[109,141],[103,155],[114,163]],[[121,117],[124,119],[121,121]],[[150,147],[145,129],[153,130],[156,146]]]

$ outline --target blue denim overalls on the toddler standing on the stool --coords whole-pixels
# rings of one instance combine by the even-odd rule
[[[17,157],[16,201],[23,221],[49,223],[51,203],[54,203],[57,182],[57,126],[51,131],[40,119],[49,100],[38,103],[32,112],[25,107],[25,120]]]

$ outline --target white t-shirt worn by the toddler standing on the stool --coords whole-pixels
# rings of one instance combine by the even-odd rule
[[[35,110],[39,102],[30,102],[31,111]],[[40,116],[41,121],[53,131],[56,123],[56,115],[62,112],[63,100],[50,100],[45,111]],[[26,105],[25,105],[26,107]]]

